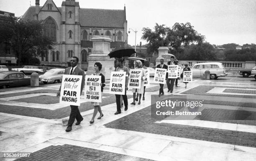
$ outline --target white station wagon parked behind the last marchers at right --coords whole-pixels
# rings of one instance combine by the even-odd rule
[[[218,77],[228,75],[222,63],[218,62],[197,63],[191,70],[193,77],[204,77],[206,70],[210,71],[210,79],[217,79]]]

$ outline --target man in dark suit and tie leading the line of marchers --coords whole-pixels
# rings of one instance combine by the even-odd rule
[[[71,61],[71,67],[68,67],[65,69],[64,74],[70,74],[70,75],[82,75],[82,84],[81,84],[81,94],[84,89],[84,71],[77,66],[77,63],[79,59],[77,56],[73,56]],[[61,87],[59,87],[59,91],[57,92],[57,97],[60,97]],[[67,132],[72,130],[72,125],[74,123],[74,120],[77,119],[76,125],[79,125],[84,118],[80,114],[80,111],[78,109],[78,106],[70,105],[71,112],[69,115],[69,121],[68,121],[68,127],[66,129]]]

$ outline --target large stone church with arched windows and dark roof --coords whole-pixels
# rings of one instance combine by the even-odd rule
[[[124,10],[80,8],[75,0],[63,1],[61,7],[53,0],[46,0],[40,6],[36,0],[36,6],[30,6],[22,18],[43,20],[44,33],[55,42],[54,50],[38,57],[46,66],[67,66],[72,56],[77,56],[82,69],[87,69],[94,36],[109,37],[112,49],[128,43],[125,7]]]

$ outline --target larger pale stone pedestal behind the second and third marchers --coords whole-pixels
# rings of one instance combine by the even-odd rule
[[[93,36],[92,39],[92,54],[88,56],[88,68],[86,74],[94,74],[95,62],[102,64],[101,72],[105,79],[110,79],[110,72],[115,71],[114,58],[109,58],[110,42],[112,41],[108,36]]]

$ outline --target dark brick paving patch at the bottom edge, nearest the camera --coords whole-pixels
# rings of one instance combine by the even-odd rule
[[[15,161],[154,161],[73,145],[49,146]]]

